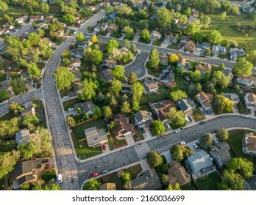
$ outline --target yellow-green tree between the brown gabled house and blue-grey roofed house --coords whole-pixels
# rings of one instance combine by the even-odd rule
[[[187,124],[184,113],[182,111],[177,111],[177,108],[170,108],[166,114],[172,127],[182,127]]]

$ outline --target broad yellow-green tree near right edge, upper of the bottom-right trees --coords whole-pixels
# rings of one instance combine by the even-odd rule
[[[253,163],[249,160],[243,159],[241,157],[232,158],[230,163],[227,165],[227,171],[234,171],[240,174],[243,178],[249,179],[253,175],[254,167]]]

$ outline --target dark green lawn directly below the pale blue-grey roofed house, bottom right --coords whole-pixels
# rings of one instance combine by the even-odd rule
[[[221,182],[221,177],[215,171],[200,179],[196,179],[199,190],[218,190],[217,185]]]

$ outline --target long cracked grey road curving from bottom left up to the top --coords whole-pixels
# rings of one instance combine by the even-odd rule
[[[94,15],[88,20],[78,31],[85,32],[87,26],[96,23],[104,16],[104,11]],[[77,180],[77,164],[73,149],[73,142],[71,141],[70,131],[65,124],[65,115],[63,113],[62,103],[57,92],[54,81],[54,72],[59,66],[61,55],[65,49],[68,49],[74,36],[63,42],[53,56],[46,64],[42,92],[43,98],[46,102],[46,114],[49,119],[49,129],[53,138],[54,152],[57,161],[58,172],[63,175],[63,190],[79,190],[79,182]],[[74,182],[72,179],[74,179]]]

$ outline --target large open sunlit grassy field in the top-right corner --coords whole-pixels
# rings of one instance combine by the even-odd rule
[[[253,50],[256,47],[256,31],[249,31],[249,33],[242,33],[241,31],[235,31],[232,29],[232,25],[235,23],[230,22],[245,22],[242,25],[255,25],[252,20],[246,19],[246,14],[234,15],[226,18],[225,20],[220,20],[219,15],[209,15],[211,18],[210,26],[207,29],[201,29],[200,33],[209,34],[210,31],[218,30],[224,40],[235,40],[238,42],[239,48],[246,48],[246,50]],[[221,21],[213,22],[213,21]]]

